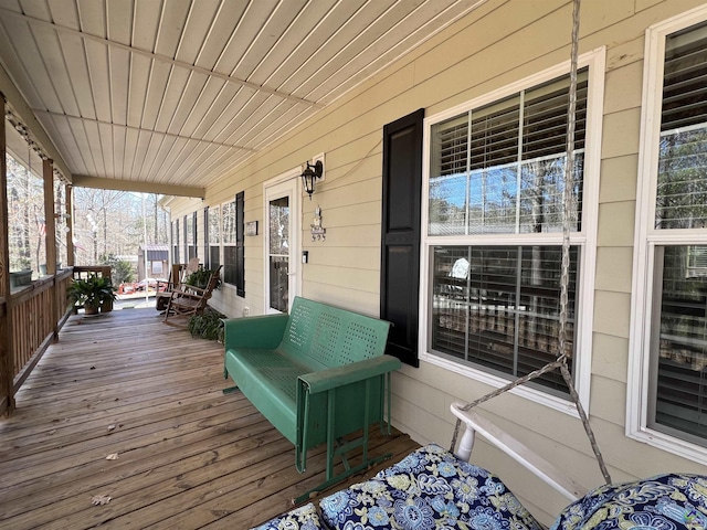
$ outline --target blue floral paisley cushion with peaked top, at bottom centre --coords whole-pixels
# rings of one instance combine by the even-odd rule
[[[337,530],[542,529],[497,477],[434,444],[319,507]]]

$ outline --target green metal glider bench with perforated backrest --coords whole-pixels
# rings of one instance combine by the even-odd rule
[[[401,364],[383,354],[389,327],[299,297],[289,315],[224,321],[224,378],[295,445],[297,470],[305,471],[307,449],[327,444],[327,479],[315,490],[386,457],[369,458],[368,438],[373,423],[390,434],[390,379]],[[344,441],[357,431],[361,436]],[[352,467],[346,454],[358,447],[362,462]],[[345,470],[335,476],[337,456]]]

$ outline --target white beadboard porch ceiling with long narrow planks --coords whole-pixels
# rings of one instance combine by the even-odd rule
[[[203,187],[485,0],[0,0],[75,176]]]

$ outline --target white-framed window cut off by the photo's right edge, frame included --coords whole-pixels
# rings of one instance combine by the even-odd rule
[[[707,9],[647,32],[627,434],[707,463]]]

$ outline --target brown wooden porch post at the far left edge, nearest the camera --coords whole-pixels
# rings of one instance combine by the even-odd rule
[[[7,102],[0,93],[0,414],[14,410],[14,367],[12,353],[12,319],[10,318],[10,245],[8,244],[8,167],[4,117]]]

